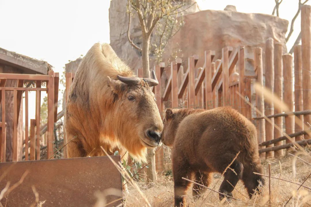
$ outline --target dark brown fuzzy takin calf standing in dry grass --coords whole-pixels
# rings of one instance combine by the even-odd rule
[[[184,204],[190,182],[196,180],[208,186],[212,173],[224,173],[220,185],[220,199],[232,196],[237,182],[242,179],[248,195],[264,183],[261,176],[257,133],[255,126],[230,107],[203,109],[167,109],[163,121],[162,142],[172,146],[175,206]],[[228,182],[227,182],[228,181]],[[232,186],[230,185],[230,183]],[[202,193],[202,187],[193,186],[193,196]]]

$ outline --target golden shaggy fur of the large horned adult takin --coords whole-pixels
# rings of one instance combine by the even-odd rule
[[[110,154],[128,151],[135,159],[146,160],[146,129],[159,133],[163,129],[154,94],[144,81],[128,86],[117,75],[132,77],[134,73],[109,44],[94,44],[69,90],[66,141],[77,137],[67,145],[67,157],[102,156],[103,146]]]

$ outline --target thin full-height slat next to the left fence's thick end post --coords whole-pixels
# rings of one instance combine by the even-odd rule
[[[41,81],[36,81],[36,88],[41,88]],[[40,160],[40,91],[36,91],[36,160]]]

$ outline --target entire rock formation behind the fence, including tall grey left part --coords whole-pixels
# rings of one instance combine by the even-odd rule
[[[128,42],[126,3],[127,0],[112,0],[110,3],[110,44],[119,57],[130,67],[137,69],[142,66],[141,54]],[[197,54],[198,65],[202,66],[205,50],[215,50],[216,58],[220,58],[223,47],[245,45],[246,70],[247,74],[252,74],[253,48],[264,49],[267,38],[271,37],[275,43],[282,43],[286,51],[287,20],[267,14],[241,13],[234,9],[234,6],[228,5],[226,11],[199,11],[197,6],[186,10],[187,13],[183,14],[184,25],[165,48],[164,61],[167,62],[171,54],[177,54],[183,60]],[[141,44],[136,14],[132,19],[130,31],[134,43]],[[150,67],[153,67],[153,63],[154,59],[151,57]]]

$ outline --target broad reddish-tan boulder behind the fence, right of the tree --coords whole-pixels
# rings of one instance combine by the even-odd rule
[[[285,33],[288,21],[266,14],[247,14],[236,11],[205,10],[183,16],[184,26],[170,40],[165,49],[165,57],[181,50],[178,56],[187,58],[199,55],[199,66],[204,64],[204,51],[215,50],[216,58],[221,59],[223,47],[245,45],[247,73],[253,70],[253,48],[262,47],[267,38],[285,46]],[[264,58],[264,54],[263,54]]]

